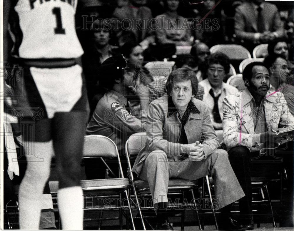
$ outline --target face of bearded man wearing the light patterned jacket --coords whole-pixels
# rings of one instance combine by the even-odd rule
[[[252,68],[252,78],[249,88],[258,96],[265,96],[268,92],[270,81],[268,70],[264,66],[254,66]]]

